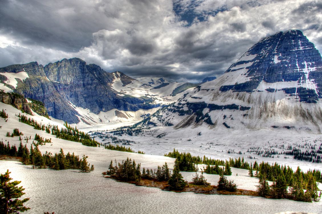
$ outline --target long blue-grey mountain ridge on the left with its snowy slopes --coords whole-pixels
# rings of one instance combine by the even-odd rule
[[[181,96],[170,94],[184,83],[169,83],[164,78],[155,82],[151,85],[121,72],[107,73],[78,58],[45,67],[32,62],[0,68],[0,89],[44,102],[48,114],[55,119],[88,125],[109,121],[106,114],[96,117],[100,112],[112,111],[117,116],[120,114],[115,110],[149,110],[175,102]],[[145,113],[153,112],[141,112]]]

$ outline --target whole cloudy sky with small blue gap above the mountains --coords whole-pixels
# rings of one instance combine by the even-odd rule
[[[79,57],[131,77],[219,76],[260,38],[322,51],[320,0],[0,0],[0,67]]]

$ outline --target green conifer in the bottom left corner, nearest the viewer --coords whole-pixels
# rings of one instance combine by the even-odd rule
[[[21,181],[13,181],[10,178],[9,170],[5,174],[0,175],[0,213],[9,214],[9,213],[19,213],[19,211],[24,212],[29,207],[24,206],[24,202],[28,201],[29,198],[18,199],[25,193],[24,188],[16,187]],[[13,200],[14,199],[14,200]]]

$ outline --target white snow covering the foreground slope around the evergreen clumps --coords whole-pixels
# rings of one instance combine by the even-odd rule
[[[5,143],[10,142],[10,145],[19,145],[19,137],[5,137],[7,131],[12,132],[15,127],[24,133],[24,136],[32,136],[35,133],[40,134],[44,138],[52,138],[52,143],[39,146],[42,153],[59,152],[62,148],[64,153],[74,152],[80,157],[85,154],[89,156],[88,162],[95,166],[95,170],[90,173],[78,173],[78,170],[50,170],[50,169],[31,169],[31,166],[26,166],[20,162],[15,161],[0,161],[0,172],[3,174],[7,169],[11,171],[11,177],[14,180],[21,180],[21,185],[24,186],[26,194],[24,197],[29,197],[30,200],[25,203],[31,209],[24,213],[43,213],[49,211],[55,214],[61,213],[278,213],[285,211],[305,211],[311,213],[320,213],[322,202],[299,202],[288,199],[265,199],[261,197],[251,196],[228,196],[228,195],[204,195],[194,194],[191,192],[175,193],[167,192],[157,188],[139,187],[133,184],[121,183],[115,180],[107,179],[102,176],[102,172],[108,169],[111,160],[120,162],[127,157],[134,159],[137,163],[141,163],[141,169],[156,169],[158,165],[168,163],[169,168],[173,169],[173,158],[148,155],[160,154],[165,149],[161,142],[151,145],[154,142],[150,141],[151,138],[140,137],[142,141],[136,143],[132,148],[137,151],[137,148],[146,148],[147,154],[128,153],[120,151],[111,151],[103,149],[102,147],[87,147],[78,142],[71,142],[62,139],[57,139],[55,136],[33,129],[32,126],[18,122],[15,114],[20,111],[10,105],[0,103],[0,109],[5,109],[8,113],[8,122],[0,118],[1,140]],[[22,112],[20,112],[22,114]],[[34,118],[42,124],[54,124],[62,127],[62,124],[50,121],[44,117],[34,114],[35,116],[27,115]],[[182,134],[182,133],[181,133]],[[187,134],[187,133],[185,133]],[[180,134],[173,134],[178,138]],[[190,137],[193,141],[182,141],[181,144],[171,143],[173,138],[168,138],[167,143],[164,145],[171,145],[178,148],[179,151],[184,151],[184,146],[187,150],[195,148],[195,153],[206,154],[208,157],[218,157],[222,153],[213,151],[212,155],[206,153],[208,150],[198,151],[196,148],[189,147],[189,145],[197,145],[198,138],[193,138],[194,133]],[[199,137],[204,139],[206,135],[202,134]],[[133,139],[133,138],[132,138]],[[154,138],[156,139],[156,138]],[[237,139],[237,135],[236,135]],[[143,141],[144,140],[144,141]],[[158,138],[158,140],[160,140]],[[162,139],[162,141],[166,141]],[[178,140],[179,141],[179,140]],[[27,144],[30,148],[29,141]],[[23,141],[25,143],[25,141]],[[171,144],[170,144],[171,143]],[[149,145],[143,147],[141,145]],[[199,146],[199,144],[198,144]],[[170,146],[168,146],[170,148]],[[150,150],[148,148],[151,148]],[[202,148],[202,147],[201,147]],[[170,151],[172,151],[172,149]],[[210,151],[210,149],[209,149]],[[222,155],[221,158],[234,157],[237,154]],[[247,155],[246,155],[247,156]],[[237,157],[237,156],[236,156]],[[288,159],[293,161],[293,159]],[[254,161],[254,160],[252,160]],[[257,160],[257,161],[260,161]],[[266,161],[266,160],[265,160]],[[319,168],[321,165],[314,165],[308,162],[297,161],[294,164],[300,165],[304,168],[306,165],[311,169]],[[199,167],[203,167],[200,165]],[[182,172],[185,179],[191,181],[193,172]],[[238,174],[238,176],[236,176]],[[217,184],[218,175],[205,174],[206,179],[211,184]],[[227,176],[228,179],[234,180],[239,189],[255,190],[255,185],[258,184],[257,178],[248,176],[247,170],[232,168],[232,176]],[[319,185],[322,189],[322,185]]]

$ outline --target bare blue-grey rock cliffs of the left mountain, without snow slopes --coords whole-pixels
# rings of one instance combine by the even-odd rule
[[[17,79],[13,91],[43,102],[49,116],[68,123],[81,121],[75,106],[89,109],[95,114],[112,109],[137,111],[160,106],[151,97],[124,96],[113,88],[116,79],[122,82],[122,86],[127,86],[135,79],[121,72],[107,73],[98,65],[86,64],[79,58],[63,59],[45,67],[32,62],[0,68],[0,74],[21,71],[29,77],[23,81]],[[3,75],[0,77],[5,81]]]

